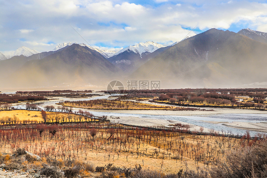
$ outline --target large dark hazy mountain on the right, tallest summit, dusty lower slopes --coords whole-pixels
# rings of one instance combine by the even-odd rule
[[[131,78],[161,80],[169,88],[240,87],[267,80],[266,55],[263,43],[228,30],[210,29],[149,60]]]

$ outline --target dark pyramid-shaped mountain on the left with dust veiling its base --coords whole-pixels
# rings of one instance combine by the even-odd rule
[[[107,85],[117,75],[113,68],[98,52],[73,44],[41,60],[26,62],[11,75],[12,81],[5,83],[10,87]]]

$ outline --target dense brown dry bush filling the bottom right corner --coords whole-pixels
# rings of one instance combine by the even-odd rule
[[[267,177],[267,139],[255,146],[232,151],[228,163],[220,162],[210,171],[211,178],[264,178]]]

